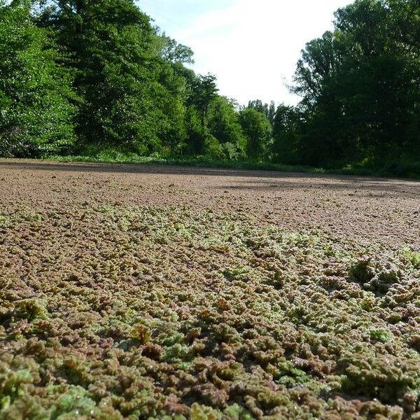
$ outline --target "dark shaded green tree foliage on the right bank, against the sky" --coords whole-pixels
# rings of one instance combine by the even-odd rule
[[[383,165],[419,153],[419,21],[418,1],[356,0],[307,43],[293,88],[303,98],[298,162]]]

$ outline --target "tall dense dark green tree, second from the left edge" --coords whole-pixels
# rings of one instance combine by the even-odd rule
[[[80,139],[142,154],[160,151],[168,135],[168,146],[182,141],[182,81],[167,61],[182,51],[167,39],[162,47],[134,1],[57,0],[38,22],[73,57]]]

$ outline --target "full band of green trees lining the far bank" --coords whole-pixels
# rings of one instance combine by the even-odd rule
[[[339,9],[302,51],[297,106],[221,96],[132,0],[0,0],[0,57],[3,156],[111,148],[324,167],[420,156],[417,0]]]

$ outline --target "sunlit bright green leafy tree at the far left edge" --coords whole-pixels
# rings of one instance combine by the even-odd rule
[[[69,71],[29,1],[0,1],[0,155],[64,152],[75,140]]]

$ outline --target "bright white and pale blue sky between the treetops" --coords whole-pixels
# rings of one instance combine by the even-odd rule
[[[168,36],[195,52],[193,69],[212,73],[219,93],[297,104],[288,92],[305,43],[332,29],[350,0],[138,0]]]

